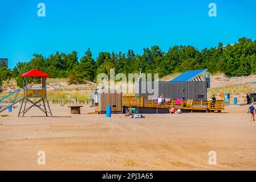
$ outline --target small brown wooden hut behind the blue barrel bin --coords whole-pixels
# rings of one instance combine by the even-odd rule
[[[121,90],[97,90],[94,93],[95,112],[103,114],[107,105],[111,106],[112,113],[122,112]]]

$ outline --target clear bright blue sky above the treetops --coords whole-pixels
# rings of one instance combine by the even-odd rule
[[[46,17],[38,17],[38,3]],[[217,17],[208,5],[217,5]],[[88,47],[96,58],[101,51],[127,52],[175,45],[198,49],[232,44],[246,36],[256,39],[255,0],[0,0],[0,57],[9,67],[29,61],[34,53],[78,51]]]

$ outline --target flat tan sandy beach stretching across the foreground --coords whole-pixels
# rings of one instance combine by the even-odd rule
[[[0,118],[1,170],[255,170],[256,122],[248,106],[226,106],[223,113],[82,114],[51,105],[54,117],[36,107],[18,118]],[[7,111],[1,114],[8,114]],[[38,117],[30,117],[37,115]],[[38,151],[46,164],[39,165]],[[210,165],[209,151],[217,164]]]

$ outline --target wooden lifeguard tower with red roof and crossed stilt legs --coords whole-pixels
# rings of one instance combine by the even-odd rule
[[[24,114],[27,113],[33,106],[38,107],[40,110],[42,110],[46,116],[48,117],[48,114],[52,117],[51,109],[49,106],[49,102],[47,100],[47,86],[46,86],[46,78],[49,75],[44,72],[40,72],[36,69],[32,69],[31,71],[24,73],[21,75],[23,77],[23,90],[24,90],[24,97],[21,103],[21,108],[19,109],[19,115],[22,114],[22,117],[24,117]],[[27,77],[41,77],[42,78],[42,87],[27,87]],[[37,101],[34,102],[34,99],[37,99]],[[27,102],[30,102],[29,107],[26,108]],[[43,102],[43,105],[40,105],[40,102]],[[46,103],[48,110],[46,109]]]

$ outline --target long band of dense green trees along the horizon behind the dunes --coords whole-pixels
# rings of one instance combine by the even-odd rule
[[[15,77],[21,85],[20,75],[32,68],[44,71],[53,78],[69,76],[74,83],[94,81],[99,73],[109,75],[111,68],[115,68],[116,74],[125,73],[127,76],[128,73],[139,73],[140,68],[144,73],[159,73],[160,77],[201,68],[208,68],[210,73],[224,72],[227,76],[247,76],[256,74],[255,56],[256,40],[245,37],[233,45],[219,43],[217,47],[201,51],[193,46],[173,46],[163,52],[159,46],[153,46],[144,48],[142,54],[136,54],[132,49],[127,53],[100,52],[96,60],[88,49],[80,63],[75,51],[69,54],[56,52],[48,57],[34,54],[27,63],[18,63],[11,77]],[[1,65],[4,66],[3,63]],[[2,79],[3,75],[6,76],[6,70],[2,70]]]

